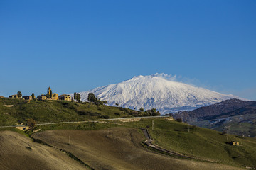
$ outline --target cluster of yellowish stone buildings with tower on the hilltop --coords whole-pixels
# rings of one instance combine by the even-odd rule
[[[22,96],[21,92],[18,91],[17,94],[9,96],[9,98],[23,98],[24,100],[33,100],[35,99],[34,94],[31,96]],[[53,93],[53,91],[50,89],[50,87],[47,89],[47,94],[41,94],[40,96],[37,96],[37,99],[39,101],[46,101],[46,100],[54,100],[54,101],[71,101],[71,96],[68,94],[62,94],[58,95],[56,93]]]

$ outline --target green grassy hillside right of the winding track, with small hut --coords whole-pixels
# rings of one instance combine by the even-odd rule
[[[151,123],[152,120],[144,119],[124,125],[132,128],[150,126],[149,133],[154,143],[165,149],[221,164],[256,167],[255,138],[222,135],[215,130],[159,118],[154,119],[154,130],[151,130]],[[226,143],[232,140],[240,142],[240,145]]]

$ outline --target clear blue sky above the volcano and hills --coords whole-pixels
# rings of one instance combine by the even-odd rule
[[[0,1],[0,96],[176,74],[256,100],[256,1]]]

